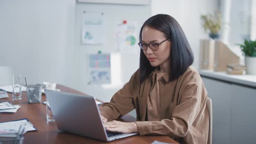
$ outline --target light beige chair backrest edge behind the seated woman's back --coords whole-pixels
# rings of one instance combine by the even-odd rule
[[[209,112],[209,133],[208,133],[208,141],[207,144],[212,144],[213,139],[213,105],[212,100],[207,97],[206,107]]]

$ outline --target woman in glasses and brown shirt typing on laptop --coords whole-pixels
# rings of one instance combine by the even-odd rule
[[[139,69],[100,108],[106,130],[161,134],[184,144],[207,144],[207,91],[190,66],[194,56],[181,26],[169,15],[152,16],[141,27],[138,44]],[[134,108],[138,121],[113,121]]]

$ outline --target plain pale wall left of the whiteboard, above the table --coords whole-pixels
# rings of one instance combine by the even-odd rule
[[[74,19],[75,0],[0,0],[0,65],[72,86]]]

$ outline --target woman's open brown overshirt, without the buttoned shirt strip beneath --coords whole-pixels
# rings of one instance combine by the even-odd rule
[[[207,144],[209,114],[206,108],[207,91],[203,81],[192,66],[179,78],[169,82],[165,74],[159,81],[159,101],[161,121],[145,121],[148,97],[155,83],[154,70],[140,84],[137,70],[129,82],[100,108],[101,114],[112,121],[126,115],[134,108],[140,135],[168,135],[183,144]]]

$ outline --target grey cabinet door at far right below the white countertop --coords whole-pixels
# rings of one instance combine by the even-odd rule
[[[256,88],[232,85],[232,144],[256,144],[255,103]]]

